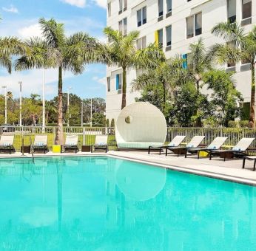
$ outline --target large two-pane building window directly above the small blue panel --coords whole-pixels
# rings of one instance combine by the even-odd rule
[[[202,13],[186,18],[186,38],[202,34]]]

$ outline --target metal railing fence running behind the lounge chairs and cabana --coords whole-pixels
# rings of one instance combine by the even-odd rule
[[[36,134],[48,135],[48,147],[52,150],[55,144],[57,126],[34,127],[34,126],[0,126],[1,134],[14,134],[14,147],[16,151],[21,151],[22,142],[24,145],[31,145]],[[64,137],[66,134],[78,134],[78,146],[93,145],[96,135],[108,134],[108,145],[111,150],[117,148],[115,141],[115,128],[105,127],[64,127]],[[170,142],[176,135],[186,135],[186,142],[189,142],[195,135],[205,135],[203,144],[209,145],[215,137],[228,137],[225,145],[236,145],[243,137],[256,137],[255,128],[167,128],[166,143]],[[252,143],[256,148],[256,140]]]

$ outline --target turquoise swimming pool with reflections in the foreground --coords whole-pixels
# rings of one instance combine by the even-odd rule
[[[0,159],[0,250],[256,250],[256,188],[110,157]]]

